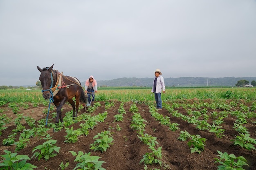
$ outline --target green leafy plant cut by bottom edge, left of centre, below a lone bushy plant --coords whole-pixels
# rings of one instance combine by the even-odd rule
[[[99,161],[101,157],[98,156],[90,156],[91,152],[83,154],[82,151],[78,151],[78,154],[74,151],[70,151],[73,156],[76,156],[75,162],[79,162],[76,164],[76,167],[73,170],[79,168],[79,170],[106,170],[101,167],[102,163],[106,163],[104,161]]]

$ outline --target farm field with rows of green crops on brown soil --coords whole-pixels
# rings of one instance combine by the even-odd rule
[[[106,170],[217,170],[220,152],[244,157],[245,170],[256,167],[255,88],[166,89],[162,110],[150,89],[99,89],[96,95],[94,106],[81,106],[75,119],[65,104],[58,125],[52,105],[45,126],[49,101],[40,91],[0,91],[0,155],[9,150],[31,158],[49,134],[60,150],[48,160],[27,160],[36,170],[61,170],[67,162],[65,170],[74,169],[79,162],[70,151],[100,157]],[[91,148],[102,132],[114,139],[103,152]],[[155,157],[152,165],[148,155]]]

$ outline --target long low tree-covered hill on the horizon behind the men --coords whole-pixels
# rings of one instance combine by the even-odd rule
[[[196,86],[235,86],[239,80],[248,80],[250,83],[255,80],[256,77],[178,77],[178,78],[166,78],[164,77],[165,86],[180,86],[180,87],[196,87]],[[84,86],[85,82],[81,82]],[[112,80],[97,80],[98,86],[146,86],[151,87],[153,85],[152,78],[117,78]]]

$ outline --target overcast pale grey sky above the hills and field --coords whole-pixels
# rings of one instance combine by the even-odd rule
[[[81,82],[256,77],[256,0],[0,0],[0,86],[52,64]]]

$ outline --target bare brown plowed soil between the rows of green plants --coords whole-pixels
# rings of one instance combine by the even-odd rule
[[[193,100],[191,102],[194,102]],[[105,109],[105,103],[100,102],[101,106],[97,108],[91,115],[97,115],[99,113],[103,113],[105,111],[108,112],[108,116],[104,122],[98,123],[99,125],[95,126],[93,130],[90,130],[89,135],[85,136],[82,135],[79,137],[79,140],[72,144],[72,143],[65,143],[65,136],[67,133],[65,129],[62,129],[58,132],[53,132],[53,130],[49,130],[49,134],[53,137],[52,139],[57,140],[56,145],[61,147],[60,152],[56,157],[50,158],[48,161],[41,159],[31,159],[31,161],[27,161],[35,166],[37,170],[58,170],[61,161],[66,163],[69,161],[69,166],[66,168],[67,170],[72,170],[76,167],[77,162],[74,162],[75,157],[69,152],[70,150],[74,152],[82,151],[82,152],[91,152],[92,155],[97,155],[101,157],[99,160],[105,161],[102,167],[106,170],[144,170],[144,163],[139,164],[143,155],[146,152],[150,152],[148,146],[143,144],[137,137],[137,132],[130,128],[132,113],[129,111],[132,102],[127,102],[124,104],[124,109],[126,110],[126,114],[124,114],[124,120],[115,122],[114,115],[118,114],[118,108],[120,106],[120,102],[115,102],[115,106],[109,108],[108,110]],[[29,104],[30,105],[30,104]],[[171,104],[170,104],[171,105]],[[200,135],[201,137],[206,138],[206,146],[205,150],[198,153],[191,153],[189,146],[187,145],[188,141],[180,141],[177,138],[180,136],[180,130],[176,130],[175,132],[168,130],[167,126],[163,126],[159,124],[159,121],[156,121],[154,117],[150,115],[149,108],[146,104],[139,104],[137,103],[136,106],[139,109],[140,115],[145,119],[146,128],[144,133],[149,135],[153,135],[157,137],[157,141],[159,146],[162,146],[162,161],[165,164],[165,167],[169,167],[171,170],[216,170],[217,166],[220,164],[214,163],[214,158],[218,157],[217,150],[221,152],[227,152],[228,154],[234,154],[236,157],[243,156],[247,159],[249,166],[244,166],[246,170],[255,170],[256,169],[256,151],[255,150],[247,150],[241,148],[240,146],[235,146],[231,141],[234,139],[235,135],[238,135],[232,127],[234,126],[234,121],[236,117],[229,116],[228,118],[224,119],[224,124],[221,126],[225,129],[224,137],[218,138],[216,135],[209,131],[202,131],[195,128],[195,125],[189,124],[188,122],[173,117],[166,109],[159,110],[158,112],[162,114],[164,117],[170,117],[170,121],[172,123],[179,124],[180,130],[186,130],[191,135]],[[4,110],[2,114],[6,114],[8,117],[12,119],[16,118],[16,114],[13,114],[10,108],[7,105],[0,107]],[[43,109],[47,107],[40,105],[37,108],[33,108],[31,105],[29,109],[20,110],[18,114],[23,113],[24,116],[31,116],[32,118],[36,119],[36,121],[45,118],[46,114],[43,113]],[[65,104],[63,107],[63,114],[67,113],[68,111],[72,110],[71,106]],[[195,110],[195,108],[193,108]],[[212,111],[221,111],[221,110],[211,110],[207,108],[209,113]],[[179,113],[185,114],[186,110],[184,108],[175,108],[178,110]],[[51,111],[56,112],[56,110]],[[79,110],[79,114],[83,114],[81,110]],[[50,122],[55,122],[55,119],[51,119],[49,116]],[[256,120],[251,120],[256,121]],[[211,124],[211,119],[209,119],[209,124]],[[81,122],[72,124],[74,129],[81,128],[79,126]],[[119,124],[121,127],[121,131],[116,130],[116,126]],[[26,128],[30,128],[27,124],[25,124]],[[2,130],[2,136],[0,136],[0,155],[5,154],[3,150],[10,150],[14,152],[15,146],[3,146],[2,140],[7,138],[16,126],[11,123],[7,124],[8,128]],[[249,132],[250,137],[256,139],[256,126],[255,124],[248,123],[246,124]],[[106,152],[99,152],[93,151],[90,149],[90,144],[94,143],[93,137],[104,130],[110,130],[113,132],[113,139],[114,144],[111,145],[110,148],[106,150]],[[17,135],[16,140],[18,140],[19,135]],[[29,157],[32,156],[31,152],[34,147],[43,144],[45,140],[41,139],[38,140],[37,137],[30,139],[29,145],[20,150],[18,155],[28,155]],[[165,169],[164,166],[160,167],[159,165],[148,165],[148,170],[152,170],[154,168],[157,169]],[[61,168],[59,169],[61,170]]]

